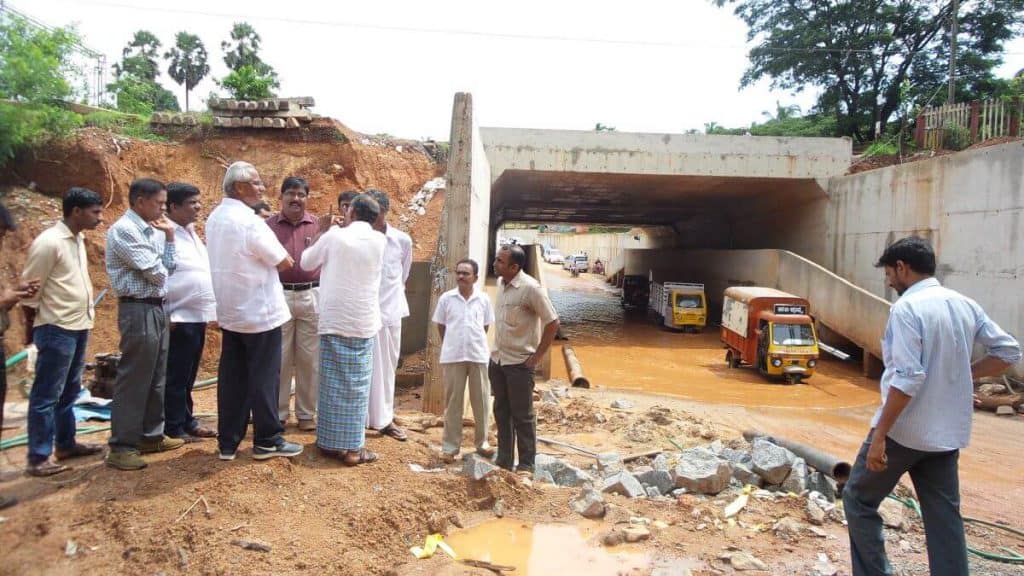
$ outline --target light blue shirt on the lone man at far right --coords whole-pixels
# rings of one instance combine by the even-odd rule
[[[871,426],[878,425],[889,389],[895,387],[911,399],[889,438],[925,452],[966,447],[974,414],[971,353],[976,344],[1010,364],[1021,360],[1020,344],[978,302],[935,278],[910,286],[889,313],[882,339],[883,406]]]

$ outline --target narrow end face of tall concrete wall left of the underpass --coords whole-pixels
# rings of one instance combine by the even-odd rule
[[[469,253],[470,202],[473,174],[473,96],[458,92],[452,107],[451,151],[447,164],[447,187],[444,190],[444,210],[437,235],[437,252],[430,264],[430,311],[434,314],[437,298],[455,287],[449,271]],[[440,337],[436,330],[427,330],[427,358],[430,369],[423,380],[423,411],[444,412],[444,383],[440,368]]]

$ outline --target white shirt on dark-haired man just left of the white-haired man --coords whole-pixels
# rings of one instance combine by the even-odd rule
[[[167,279],[167,312],[171,322],[213,322],[217,299],[213,297],[210,255],[196,224],[174,224],[177,268]]]

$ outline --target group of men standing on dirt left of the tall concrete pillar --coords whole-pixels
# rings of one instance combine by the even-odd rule
[[[307,182],[289,177],[281,212],[264,219],[257,206],[264,192],[254,166],[229,166],[204,242],[197,187],[131,183],[129,209],[106,234],[121,333],[109,465],[141,469],[144,454],[208,438],[217,439],[220,459],[231,460],[250,422],[253,458],[296,456],[302,446],[284,438],[293,382],[298,427],[315,429],[325,453],[347,464],[371,461],[367,427],[407,440],[394,422],[394,375],[413,246],[388,224],[387,195],[345,192],[340,216],[332,208],[314,217]],[[83,233],[99,225],[102,211],[98,194],[71,189],[63,218],[33,241],[22,281],[0,294],[0,329],[19,302],[25,343],[38,349],[31,476],[62,472],[65,461],[103,449],[76,439],[74,414],[96,303]],[[0,216],[3,233],[14,228],[6,209]],[[213,323],[221,333],[216,429],[196,418],[191,401]]]

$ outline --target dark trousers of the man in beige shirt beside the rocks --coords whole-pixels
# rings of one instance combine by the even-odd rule
[[[487,367],[495,397],[499,466],[512,469],[519,447],[519,469],[534,470],[537,457],[537,415],[534,413],[534,370],[525,364]]]

